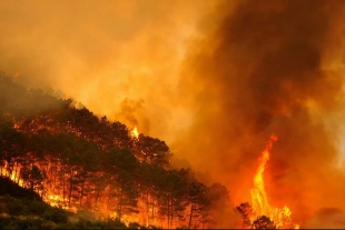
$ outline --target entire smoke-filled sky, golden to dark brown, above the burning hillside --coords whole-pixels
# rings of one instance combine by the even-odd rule
[[[344,4],[1,1],[0,69],[166,140],[234,204],[275,133],[268,200],[315,227],[345,206]]]

